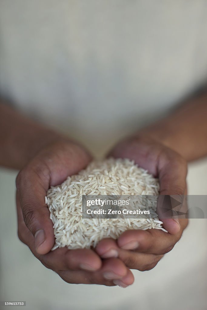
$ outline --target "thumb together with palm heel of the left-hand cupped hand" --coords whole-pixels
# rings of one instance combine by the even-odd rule
[[[49,146],[40,152],[17,176],[23,217],[39,254],[49,252],[54,245],[53,224],[44,201],[49,186],[78,172],[90,159],[79,145],[60,142],[55,148]]]

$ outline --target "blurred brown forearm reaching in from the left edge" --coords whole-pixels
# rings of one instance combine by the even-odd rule
[[[44,146],[63,135],[0,102],[0,166],[21,169]]]

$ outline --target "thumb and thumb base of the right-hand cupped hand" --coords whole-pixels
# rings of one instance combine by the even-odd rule
[[[159,177],[160,195],[183,195],[186,187],[187,163],[178,153],[150,138],[131,137],[123,140],[109,154],[130,158],[155,177]],[[160,219],[161,216],[160,216]],[[162,219],[171,234],[180,230],[179,221]]]

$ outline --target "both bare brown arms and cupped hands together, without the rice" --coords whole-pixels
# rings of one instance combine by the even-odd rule
[[[167,119],[121,141],[110,155],[131,158],[149,170],[159,178],[161,194],[187,193],[187,161],[207,154],[206,97],[187,102]],[[0,163],[20,169],[16,179],[18,235],[47,268],[69,283],[126,287],[134,281],[130,269],[150,270],[172,250],[187,227],[186,219],[163,219],[169,233],[156,229],[129,230],[117,240],[103,239],[96,249],[50,251],[54,234],[44,202],[47,189],[83,169],[91,156],[68,137],[3,104],[0,109],[1,132],[8,133],[8,139],[5,135],[0,137],[3,150]],[[12,127],[8,120],[12,121]]]

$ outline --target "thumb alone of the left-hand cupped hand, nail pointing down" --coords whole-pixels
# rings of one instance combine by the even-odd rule
[[[43,165],[41,170],[40,167],[26,168],[17,178],[17,191],[24,222],[34,236],[35,248],[39,254],[49,252],[55,242],[50,212],[44,201],[45,175],[49,175],[49,171]]]

